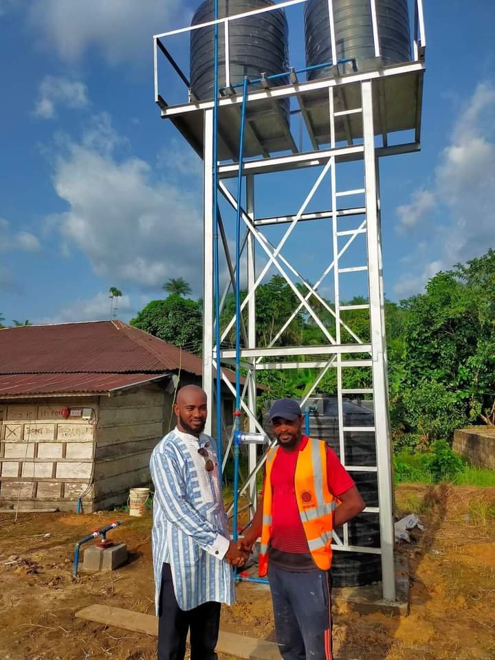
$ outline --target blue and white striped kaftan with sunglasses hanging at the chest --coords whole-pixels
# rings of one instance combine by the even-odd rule
[[[200,447],[209,452],[212,472],[206,471]],[[156,445],[150,468],[155,484],[152,538],[157,613],[164,562],[170,564],[181,610],[210,601],[232,604],[232,568],[223,560],[230,534],[212,438],[200,434],[198,439],[175,428]]]

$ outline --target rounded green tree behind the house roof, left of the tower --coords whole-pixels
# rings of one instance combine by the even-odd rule
[[[177,294],[165,300],[152,300],[131,320],[131,325],[169,344],[201,353],[203,325],[201,309],[195,300]]]

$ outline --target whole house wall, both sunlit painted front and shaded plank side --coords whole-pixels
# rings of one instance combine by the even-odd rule
[[[125,504],[130,488],[151,484],[151,452],[175,427],[172,401],[154,384],[112,397],[0,401],[0,508],[76,511],[83,493],[86,513]],[[231,427],[230,394],[223,405]],[[65,407],[91,417],[64,419]]]

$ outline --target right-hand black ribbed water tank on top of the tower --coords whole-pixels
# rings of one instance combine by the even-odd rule
[[[375,0],[382,65],[410,60],[407,0]],[[333,63],[328,0],[305,5],[306,64]],[[337,61],[355,58],[358,71],[377,68],[370,0],[333,0]],[[347,69],[346,69],[347,70]],[[327,78],[332,69],[309,72],[308,80]]]

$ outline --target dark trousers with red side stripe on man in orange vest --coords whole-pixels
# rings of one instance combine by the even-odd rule
[[[270,564],[275,632],[284,660],[331,660],[331,577]]]

